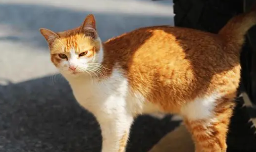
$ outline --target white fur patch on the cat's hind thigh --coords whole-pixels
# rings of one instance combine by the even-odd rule
[[[187,102],[181,108],[181,114],[189,120],[201,120],[211,118],[213,115],[216,100],[221,98],[218,94],[208,97],[196,98],[194,101]]]

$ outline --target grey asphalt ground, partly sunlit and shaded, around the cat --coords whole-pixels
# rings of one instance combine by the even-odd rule
[[[173,25],[171,1],[0,0],[0,152],[99,152],[93,115],[50,63],[38,29],[66,30],[93,13],[102,40],[138,27]],[[141,116],[128,152],[146,152],[179,124]]]

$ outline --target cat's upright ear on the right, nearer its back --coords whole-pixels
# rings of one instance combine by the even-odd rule
[[[93,14],[89,14],[88,16],[86,16],[83,24],[80,27],[80,32],[84,33],[85,36],[89,36],[92,38],[97,37],[96,21]]]

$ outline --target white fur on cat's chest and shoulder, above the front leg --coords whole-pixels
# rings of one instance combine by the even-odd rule
[[[138,93],[131,93],[128,80],[117,69],[101,82],[77,78],[69,80],[73,94],[82,107],[97,115],[97,111],[126,109],[133,116],[155,112],[156,107]]]

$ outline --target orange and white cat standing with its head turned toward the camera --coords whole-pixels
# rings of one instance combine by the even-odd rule
[[[75,98],[99,122],[102,152],[124,152],[133,120],[153,112],[182,115],[196,152],[225,152],[240,50],[255,23],[254,6],[218,34],[154,26],[103,43],[93,15],[74,29],[40,32]]]

